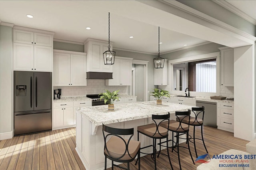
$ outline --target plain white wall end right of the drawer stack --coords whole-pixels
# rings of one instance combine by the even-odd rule
[[[234,48],[234,136],[254,139],[254,45]]]

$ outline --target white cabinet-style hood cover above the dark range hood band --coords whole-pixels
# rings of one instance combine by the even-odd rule
[[[110,44],[112,50],[112,43]],[[84,52],[87,54],[86,72],[112,72],[112,65],[105,65],[103,52],[108,50],[108,42],[88,38],[84,42]]]

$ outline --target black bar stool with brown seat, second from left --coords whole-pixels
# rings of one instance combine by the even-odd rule
[[[161,123],[166,122],[166,124],[169,125],[169,120],[170,120],[170,113],[168,114],[164,114],[164,115],[152,115],[152,120],[154,121],[154,123],[152,124],[147,124],[147,125],[143,125],[143,126],[138,126],[137,128],[137,132],[138,132],[138,140],[139,140],[139,134],[144,134],[145,136],[148,136],[150,138],[153,139],[153,145],[149,145],[149,146],[145,146],[141,149],[145,149],[148,147],[153,147],[153,153],[151,154],[151,158],[154,160],[154,164],[155,164],[155,170],[156,170],[156,139],[159,139],[161,142],[161,139],[166,138],[166,142],[168,141],[168,128],[163,128],[162,126],[160,126]],[[156,120],[161,120],[159,123],[156,123]],[[167,142],[167,147],[168,147],[168,142]],[[160,147],[161,150],[161,147]],[[141,152],[143,153],[143,152]],[[147,154],[147,153],[143,153],[143,154]],[[158,152],[158,156],[159,157],[160,151]],[[170,162],[170,166],[172,168],[172,163],[170,160],[170,154],[169,154],[169,150],[167,149],[167,155],[169,162]],[[137,163],[137,162],[136,162]],[[173,170],[173,168],[172,168]]]

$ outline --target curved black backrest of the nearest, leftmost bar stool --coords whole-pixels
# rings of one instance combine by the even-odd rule
[[[108,134],[105,135],[105,132],[107,132]],[[112,128],[112,127],[109,127],[109,126],[106,126],[106,125],[102,124],[102,133],[103,133],[103,137],[104,137],[104,150],[106,149],[106,152],[108,153],[108,155],[111,156],[111,154],[108,151],[107,145],[106,145],[107,138],[110,138],[112,136],[116,136],[124,142],[125,152],[120,157],[113,157],[113,156],[111,156],[111,157],[116,159],[116,160],[119,160],[122,157],[124,157],[124,155],[126,153],[128,153],[128,155],[132,159],[132,156],[129,154],[128,146],[129,146],[129,142],[130,142],[132,136],[134,135],[134,128],[119,129],[119,128]],[[120,135],[130,135],[130,138],[128,139],[128,142],[126,142],[126,140],[124,140],[124,138],[122,138]]]

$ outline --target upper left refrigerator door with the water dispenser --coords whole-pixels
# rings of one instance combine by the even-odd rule
[[[34,72],[14,71],[14,112],[34,110]]]

